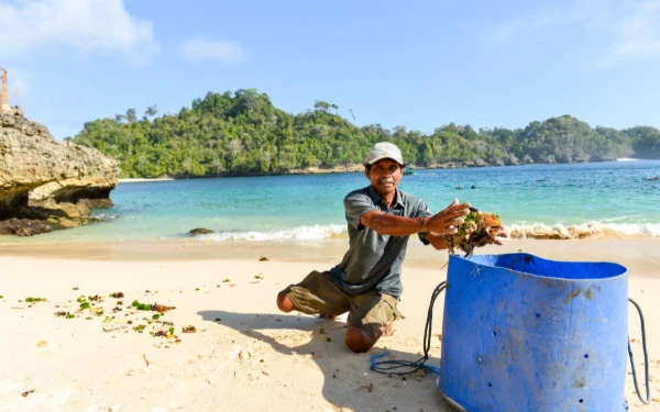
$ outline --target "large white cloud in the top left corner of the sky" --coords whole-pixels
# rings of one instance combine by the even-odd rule
[[[160,52],[152,24],[123,0],[0,0],[0,57],[69,48],[142,64]]]

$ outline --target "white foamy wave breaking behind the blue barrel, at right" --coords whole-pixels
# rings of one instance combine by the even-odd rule
[[[603,238],[622,236],[660,236],[660,224],[658,223],[603,223],[587,222],[582,224],[512,224],[508,227],[512,238]]]

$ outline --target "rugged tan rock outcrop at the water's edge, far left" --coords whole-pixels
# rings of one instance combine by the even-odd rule
[[[58,142],[14,107],[0,114],[0,234],[33,235],[76,227],[92,208],[112,205],[117,160]]]

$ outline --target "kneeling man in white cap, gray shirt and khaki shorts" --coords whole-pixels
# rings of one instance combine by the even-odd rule
[[[321,318],[349,312],[344,342],[355,353],[391,335],[394,321],[402,316],[397,302],[408,237],[417,233],[425,244],[444,249],[443,236],[457,233],[470,213],[470,203],[454,200],[432,214],[422,200],[397,189],[404,167],[397,146],[374,145],[364,165],[371,185],[344,198],[350,247],[343,260],[329,271],[312,271],[277,294],[284,312]]]

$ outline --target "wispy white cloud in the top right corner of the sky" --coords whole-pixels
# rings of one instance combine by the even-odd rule
[[[542,30],[576,25],[584,41],[600,41],[598,67],[660,58],[660,1],[576,0],[570,7],[522,15],[488,27],[485,41],[508,45]],[[578,44],[581,38],[575,38]]]

